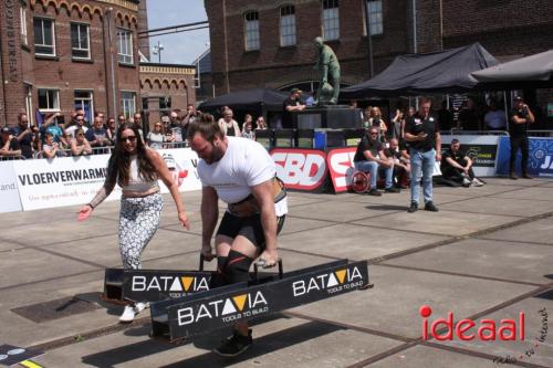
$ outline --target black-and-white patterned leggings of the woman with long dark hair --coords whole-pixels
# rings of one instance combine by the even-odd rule
[[[159,227],[163,207],[159,192],[121,199],[119,251],[124,269],[142,269],[140,254]]]

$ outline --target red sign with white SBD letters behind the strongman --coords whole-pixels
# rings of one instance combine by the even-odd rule
[[[276,175],[289,189],[315,190],[326,179],[326,154],[315,149],[274,148]]]

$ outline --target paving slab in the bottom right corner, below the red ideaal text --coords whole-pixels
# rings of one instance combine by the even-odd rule
[[[541,314],[539,311],[543,311]],[[517,338],[512,341],[502,341],[497,339],[494,341],[486,341],[481,339],[473,339],[470,341],[461,341],[453,339],[453,341],[444,341],[439,344],[461,347],[472,351],[482,351],[499,357],[507,357],[508,355],[517,358],[521,362],[529,362],[541,365],[544,367],[553,367],[553,339],[551,332],[551,316],[553,311],[553,288],[549,292],[540,294],[535,297],[523,299],[513,305],[507,306],[481,318],[489,318],[501,326],[501,319],[513,319],[519,322],[519,314],[524,313],[524,340]],[[481,319],[479,318],[479,319]],[[549,325],[547,332],[542,333],[542,327]],[[540,337],[544,336],[544,341],[540,341]],[[526,351],[533,349],[534,354],[530,357],[525,355]]]

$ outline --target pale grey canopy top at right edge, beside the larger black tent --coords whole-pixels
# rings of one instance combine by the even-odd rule
[[[488,90],[553,87],[553,50],[471,73]]]

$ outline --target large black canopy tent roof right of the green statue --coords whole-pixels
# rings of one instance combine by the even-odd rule
[[[495,57],[479,43],[441,52],[400,55],[374,78],[343,88],[341,98],[465,92],[478,86],[470,73],[497,64]]]

